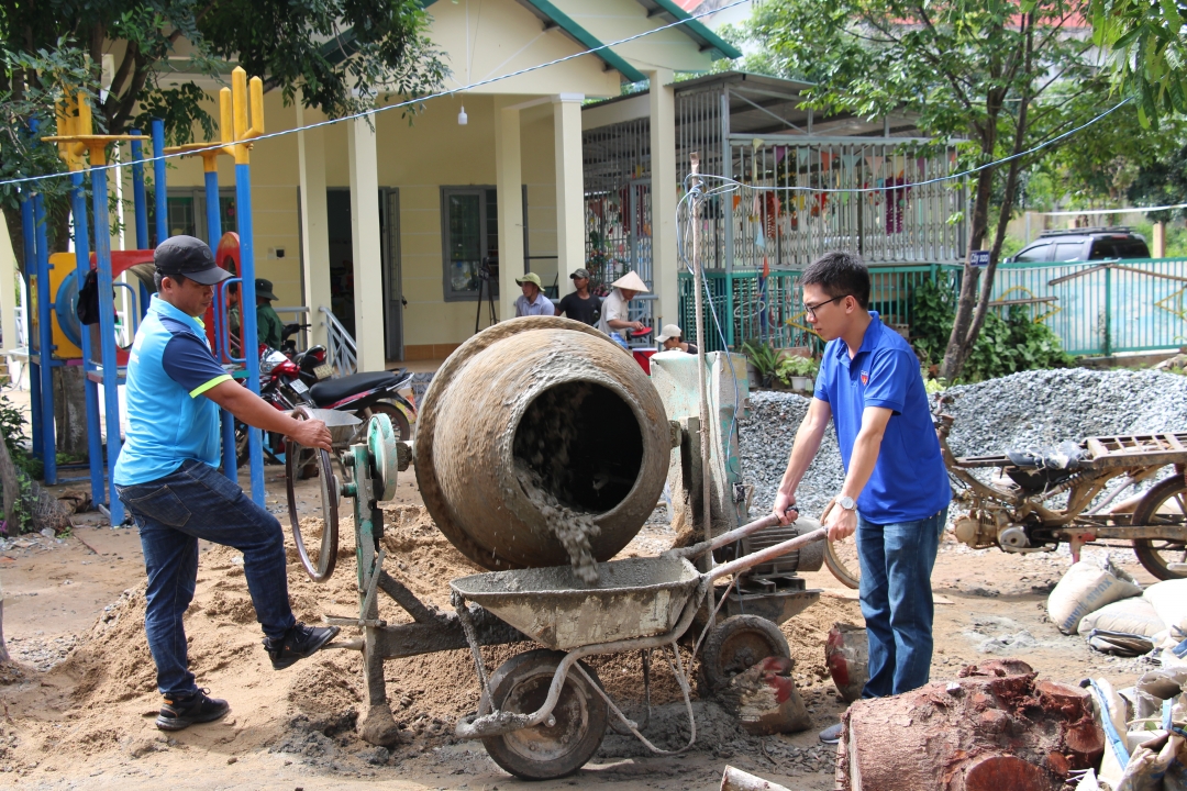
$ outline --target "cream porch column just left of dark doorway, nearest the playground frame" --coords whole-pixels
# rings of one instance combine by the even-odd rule
[[[305,108],[298,93],[297,126],[305,126]],[[325,213],[325,145],[322,129],[297,133],[297,167],[300,177],[300,249],[301,280],[310,344],[326,343],[324,317],[319,308],[330,308],[330,230]]]

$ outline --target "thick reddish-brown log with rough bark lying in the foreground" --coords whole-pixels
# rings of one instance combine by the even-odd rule
[[[1023,662],[970,665],[956,681],[853,703],[842,719],[845,791],[1055,791],[1094,766],[1104,734],[1088,694],[1036,681]]]

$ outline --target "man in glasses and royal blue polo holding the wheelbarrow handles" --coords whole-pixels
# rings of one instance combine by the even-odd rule
[[[870,642],[864,697],[922,687],[932,664],[932,566],[947,521],[947,471],[919,359],[868,311],[870,275],[858,255],[829,253],[805,272],[804,310],[829,344],[808,414],[795,433],[774,512],[785,523],[795,489],[833,421],[845,483],[826,527],[857,532],[862,614]],[[836,741],[840,726],[820,734]]]

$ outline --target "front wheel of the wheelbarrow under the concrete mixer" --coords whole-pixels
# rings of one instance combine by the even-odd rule
[[[531,714],[548,696],[552,674],[565,658],[561,651],[537,649],[512,657],[490,676],[490,694],[501,712]],[[594,683],[602,685],[597,675],[584,662],[578,663]],[[490,714],[485,695],[478,714]],[[585,677],[573,668],[560,690],[560,700],[552,709],[556,723],[540,723],[501,736],[482,740],[496,764],[525,780],[550,780],[572,774],[585,765],[602,745],[609,709],[605,701],[590,689]]]

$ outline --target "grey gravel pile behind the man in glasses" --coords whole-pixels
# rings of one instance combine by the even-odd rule
[[[948,393],[956,396],[945,409],[956,417],[948,444],[957,455],[1055,447],[1086,436],[1187,430],[1187,377],[1159,371],[1023,371]],[[755,513],[770,509],[775,499],[808,403],[810,398],[791,393],[750,395],[740,438],[743,479],[755,485]],[[796,498],[807,515],[818,516],[843,483],[830,426]]]

